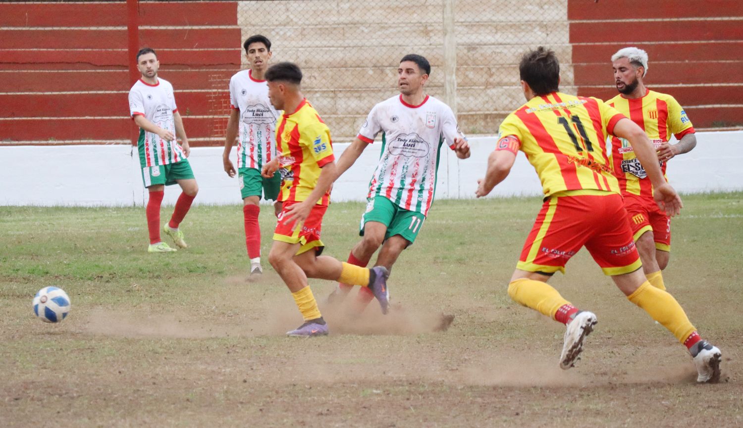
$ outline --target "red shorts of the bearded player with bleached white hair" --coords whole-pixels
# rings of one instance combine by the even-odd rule
[[[658,208],[652,197],[624,194],[627,221],[632,228],[632,237],[637,241],[646,231],[652,231],[655,248],[671,251],[671,217]]]

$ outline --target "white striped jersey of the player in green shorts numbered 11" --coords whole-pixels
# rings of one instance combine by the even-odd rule
[[[402,95],[375,105],[358,138],[374,142],[382,132],[382,152],[369,182],[368,199],[383,196],[408,211],[428,214],[436,188],[441,143],[454,148],[458,136],[452,109],[432,96],[409,105]]]

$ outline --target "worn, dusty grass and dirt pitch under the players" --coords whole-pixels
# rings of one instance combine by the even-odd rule
[[[244,281],[237,206],[195,207],[192,248],[156,256],[140,208],[0,207],[0,427],[743,426],[743,194],[684,202],[666,283],[722,349],[718,385],[695,384],[585,251],[553,284],[599,324],[559,369],[563,327],[505,292],[534,198],[438,202],[393,271],[395,310],[322,306],[331,335],[313,339],[283,336],[301,319],[270,269]],[[331,206],[328,254],[345,258],[362,210]],[[30,309],[47,285],[73,301],[59,325]],[[441,314],[455,320],[435,332]]]

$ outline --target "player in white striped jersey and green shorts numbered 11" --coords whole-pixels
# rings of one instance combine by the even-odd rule
[[[363,238],[348,254],[348,263],[366,266],[382,246],[374,266],[391,270],[400,253],[415,242],[433,203],[441,144],[446,140],[459,159],[470,157],[470,145],[459,134],[452,109],[426,95],[424,86],[430,73],[431,66],[423,56],[403,56],[398,68],[400,95],[374,105],[358,136],[338,160],[340,176],[382,133],[379,164],[369,182],[369,202],[361,216],[359,234]],[[341,281],[328,300],[342,300],[352,288]],[[362,288],[357,309],[366,308],[372,297],[369,289]]]

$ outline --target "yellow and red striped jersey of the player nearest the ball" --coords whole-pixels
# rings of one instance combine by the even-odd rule
[[[282,176],[280,201],[302,202],[317,185],[322,167],[333,162],[330,130],[307,99],[293,113],[284,113],[276,127],[276,149]],[[328,205],[330,191],[317,201]]]

